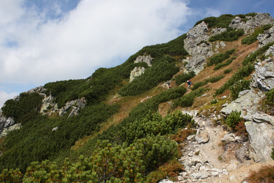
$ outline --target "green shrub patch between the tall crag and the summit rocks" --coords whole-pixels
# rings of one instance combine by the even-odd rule
[[[211,36],[208,41],[213,42],[213,41],[236,41],[238,40],[242,35],[244,35],[244,29],[232,29],[232,28],[227,28],[226,31],[216,34],[214,36]]]

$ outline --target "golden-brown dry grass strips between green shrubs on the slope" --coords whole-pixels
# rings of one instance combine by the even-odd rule
[[[216,76],[223,74],[223,71],[225,69],[229,69],[229,68],[233,69],[232,72],[230,72],[229,74],[223,74],[224,78],[221,79],[220,81],[218,81],[216,83],[207,84],[206,85],[207,88],[212,88],[212,90],[207,92],[209,95],[207,95],[203,98],[199,98],[199,99],[196,98],[193,106],[191,108],[189,108],[188,110],[197,110],[200,108],[200,106],[213,100],[214,98],[213,98],[212,94],[215,92],[215,89],[218,89],[221,86],[223,86],[223,84],[234,74],[234,72],[236,72],[237,67],[241,65],[241,62],[244,60],[244,58],[246,56],[248,56],[251,52],[253,52],[255,49],[258,48],[258,41],[256,41],[255,43],[253,43],[251,45],[241,45],[242,38],[245,38],[245,36],[241,37],[237,41],[225,42],[226,43],[225,48],[219,49],[219,52],[225,52],[229,49],[236,48],[236,52],[234,52],[234,54],[232,54],[231,56],[236,56],[237,58],[235,60],[233,60],[233,62],[230,65],[225,66],[219,70],[213,70],[215,65],[206,67],[197,76],[195,76],[191,79],[191,81],[193,81],[193,82],[203,81],[206,79],[206,77],[216,77]],[[183,64],[181,62],[177,62],[176,65],[181,66]],[[179,73],[175,74],[174,76],[176,76],[178,74],[182,74],[182,73],[183,73],[183,71],[180,71]],[[126,84],[126,83],[128,83],[128,81],[124,81],[124,84]],[[161,83],[161,84],[163,84],[163,83]],[[122,97],[121,95],[118,95],[117,93],[110,95],[107,98],[106,103],[107,104],[118,103],[121,105],[121,107],[119,108],[118,113],[115,113],[112,117],[110,117],[107,120],[107,122],[105,122],[104,124],[101,125],[101,129],[98,133],[101,134],[103,131],[105,131],[111,125],[116,125],[116,124],[120,123],[125,117],[128,117],[128,113],[130,113],[130,111],[134,107],[136,107],[142,99],[145,99],[147,96],[149,96],[149,97],[155,96],[155,95],[159,94],[161,91],[164,91],[165,88],[161,87],[160,86],[161,84],[159,84],[158,86],[154,87],[153,89],[146,91],[145,93],[143,93],[141,95],[137,95],[137,96]],[[178,87],[175,85],[175,81],[171,81],[170,85],[172,88]],[[186,88],[185,85],[183,85],[183,86]],[[229,95],[229,93],[230,93],[230,91],[227,90],[222,95]],[[217,97],[219,97],[219,96],[217,96]],[[182,109],[182,107],[177,107],[176,109],[171,110],[169,104],[167,104],[167,102],[164,102],[159,105],[158,110],[159,110],[160,114],[162,116],[164,116],[164,115],[166,115],[170,112],[173,112],[174,110],[177,110],[177,109]],[[76,144],[74,146],[72,146],[72,149],[74,149],[74,150],[78,149],[79,147],[83,146],[85,142],[87,142],[90,138],[93,138],[94,136],[96,136],[96,134],[93,134],[89,137],[84,137],[82,139],[79,139],[76,142]]]

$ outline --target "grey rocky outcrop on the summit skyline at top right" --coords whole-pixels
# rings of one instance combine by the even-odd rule
[[[256,27],[274,23],[274,18],[267,13],[257,13],[253,18],[251,16],[247,16],[246,18],[249,18],[250,20],[245,23],[241,21],[240,17],[235,17],[235,19],[231,21],[229,27],[244,29],[245,33],[248,33],[248,31],[252,31]]]

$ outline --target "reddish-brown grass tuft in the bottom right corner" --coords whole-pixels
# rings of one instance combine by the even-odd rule
[[[274,165],[265,165],[259,170],[250,170],[249,183],[274,183]]]

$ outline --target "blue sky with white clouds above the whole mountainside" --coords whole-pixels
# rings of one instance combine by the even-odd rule
[[[0,107],[48,82],[83,79],[208,16],[273,13],[274,0],[0,0]]]

